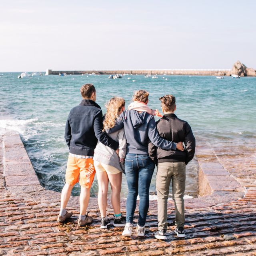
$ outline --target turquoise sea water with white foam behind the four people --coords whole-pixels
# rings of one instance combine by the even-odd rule
[[[176,96],[179,118],[189,122],[200,144],[221,148],[230,145],[229,154],[255,146],[256,78],[216,79],[214,76],[158,76],[158,79],[127,75],[110,80],[108,76],[33,76],[17,79],[20,73],[0,73],[0,128],[17,130],[43,186],[60,191],[68,158],[64,127],[68,113],[80,103],[80,86],[93,83],[96,102],[102,106],[112,96],[122,96],[126,106],[135,90],[150,92],[148,105],[160,109],[158,98]],[[131,79],[127,79],[131,78]],[[166,80],[167,78],[167,80]],[[186,194],[195,195],[198,164],[187,166]],[[155,174],[150,191],[155,192]],[[92,196],[97,195],[97,182]],[[125,177],[122,197],[126,197]],[[170,191],[171,192],[171,191]],[[76,186],[73,195],[79,194]]]

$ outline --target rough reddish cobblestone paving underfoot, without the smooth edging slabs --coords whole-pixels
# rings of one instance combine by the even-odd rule
[[[147,231],[143,238],[121,236],[122,228],[100,229],[96,199],[90,200],[90,227],[78,228],[78,200],[72,198],[70,222],[56,222],[60,194],[36,190],[23,193],[5,184],[2,141],[0,138],[0,256],[94,256],[94,255],[256,255],[256,164],[255,158],[217,152],[219,162],[245,188],[244,198],[202,208],[186,209],[186,238],[174,235],[173,204],[169,206],[168,240],[154,238],[157,230],[156,202],[150,201]],[[17,169],[17,172],[20,170]],[[20,186],[21,187],[21,186]],[[188,204],[188,202],[186,203]],[[110,204],[108,204],[110,206]],[[122,201],[122,210],[125,202]],[[124,212],[125,213],[125,212]],[[112,209],[109,209],[109,216]],[[136,210],[136,219],[138,210]]]

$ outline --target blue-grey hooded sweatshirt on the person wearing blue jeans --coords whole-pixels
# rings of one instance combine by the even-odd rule
[[[154,116],[147,112],[125,110],[116,120],[116,125],[106,132],[111,134],[123,127],[126,136],[127,154],[148,154],[149,140],[159,148],[176,150],[176,143],[159,136]]]

